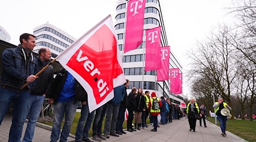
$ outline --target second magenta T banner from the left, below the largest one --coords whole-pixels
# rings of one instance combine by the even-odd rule
[[[145,71],[158,70],[161,65],[161,27],[146,30]]]

